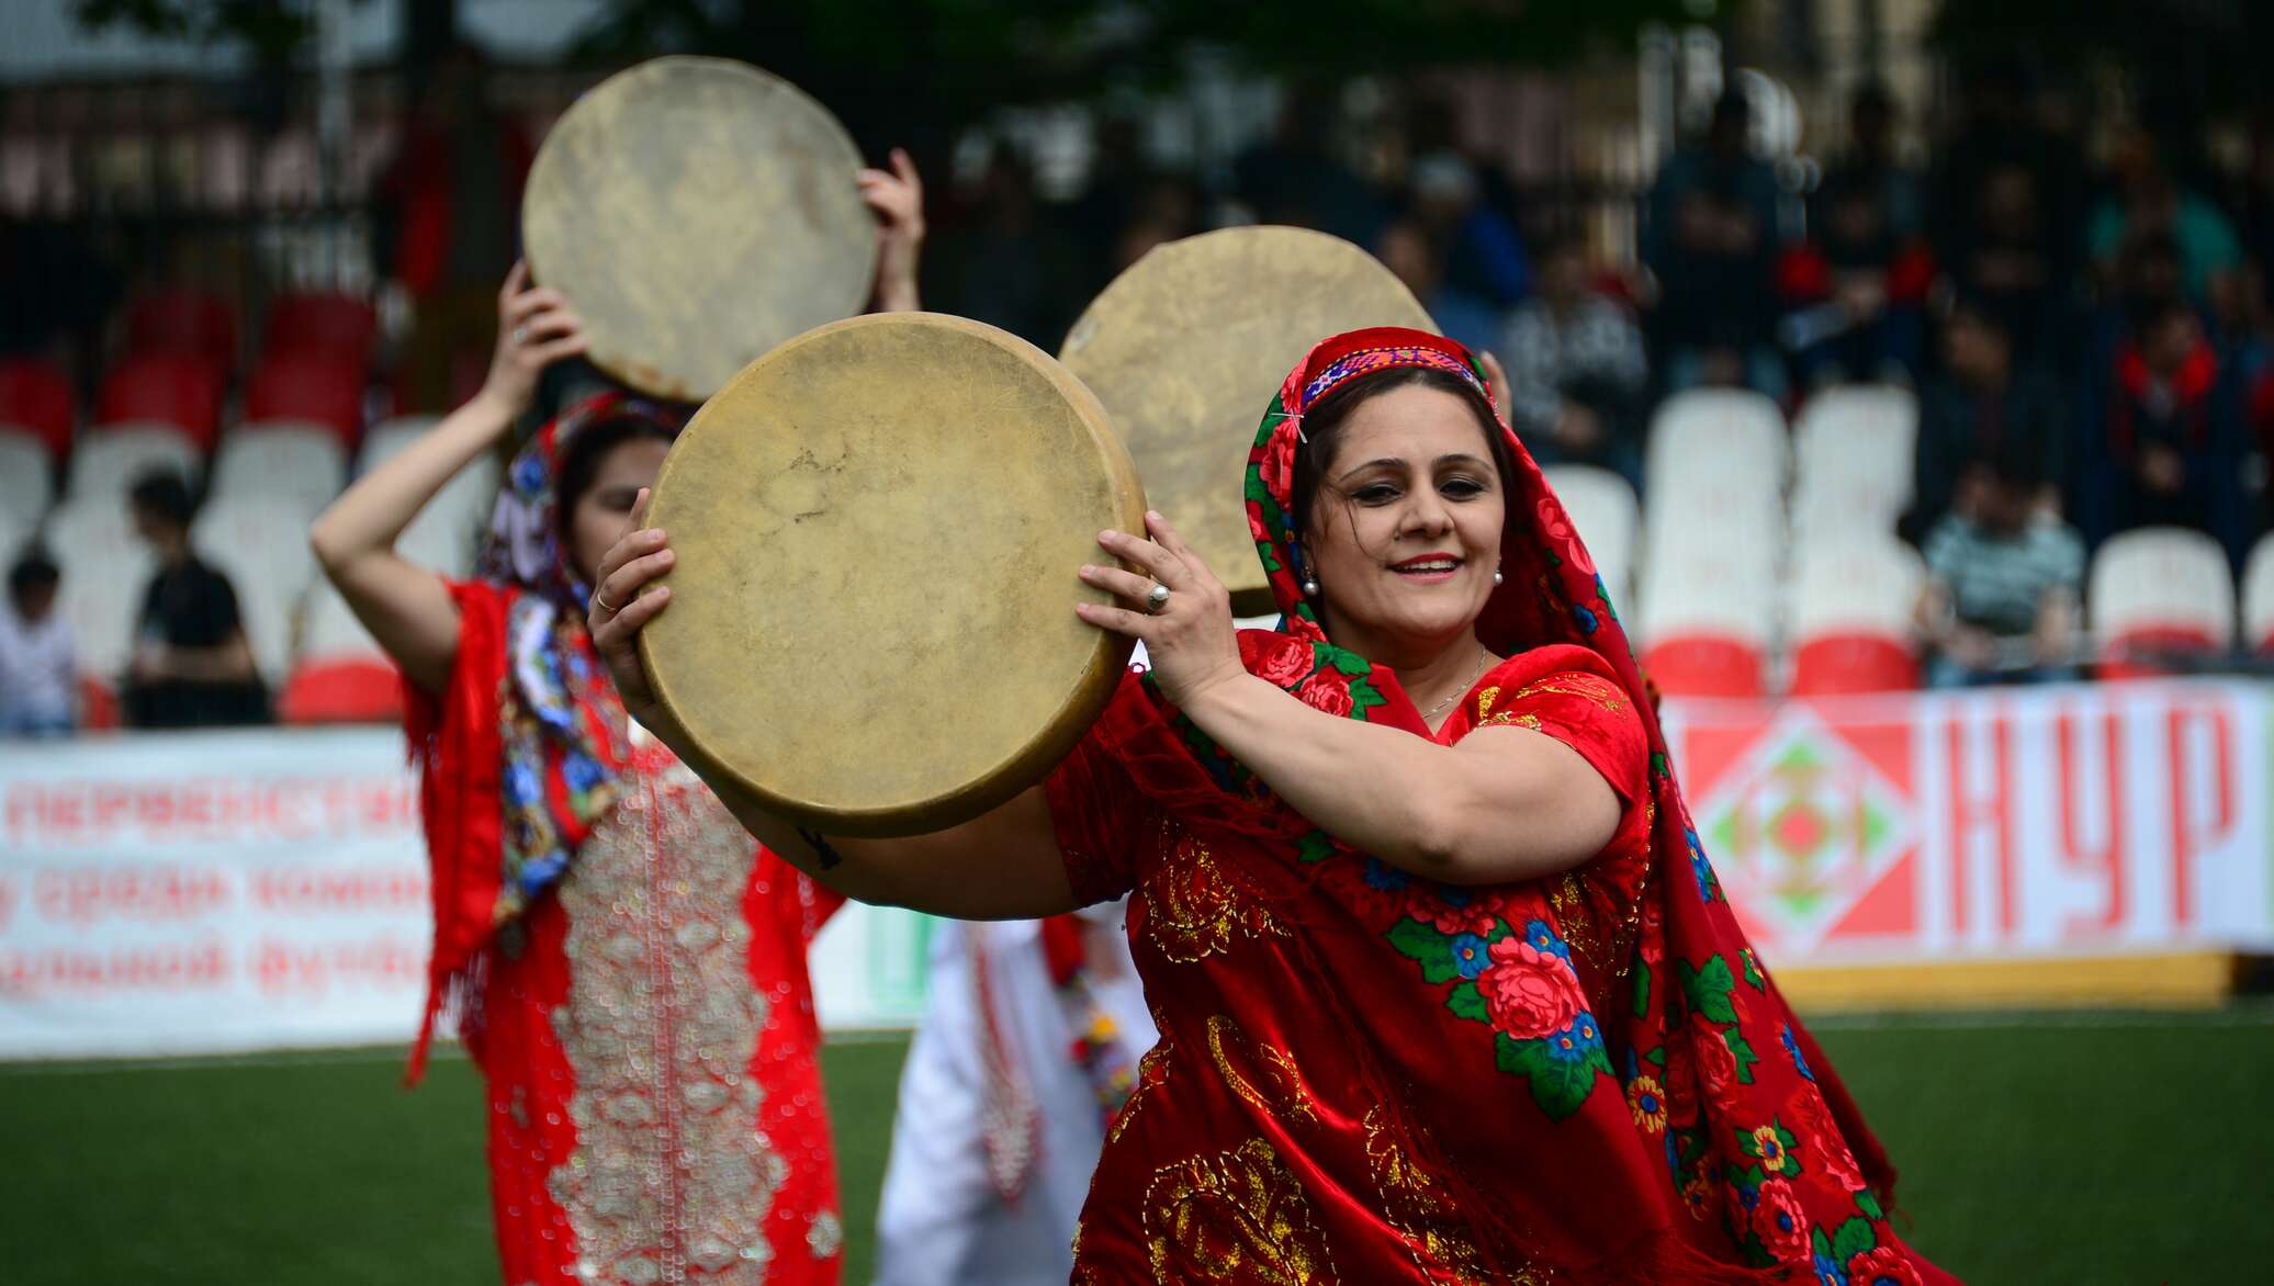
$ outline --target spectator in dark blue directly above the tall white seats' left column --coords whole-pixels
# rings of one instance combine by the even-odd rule
[[[1776,175],[1751,152],[1751,107],[1724,93],[1703,145],[1678,150],[1651,186],[1642,261],[1658,277],[1653,341],[1667,391],[1749,384],[1783,400],[1771,345]]]

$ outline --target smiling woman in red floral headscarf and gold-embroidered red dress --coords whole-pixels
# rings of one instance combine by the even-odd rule
[[[1246,504],[1276,632],[1235,632],[1160,516],[1107,532],[1144,575],[1082,568],[1130,607],[1078,611],[1153,668],[1046,786],[789,854],[960,916],[1130,893],[1162,1038],[1076,1281],[1944,1281],[1890,1227],[1894,1172],[1721,897],[1626,634],[1469,352],[1317,345]],[[603,559],[634,709],[628,643],[669,595],[630,595],[662,548]]]

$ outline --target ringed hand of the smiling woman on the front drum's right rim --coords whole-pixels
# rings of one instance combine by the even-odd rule
[[[1151,541],[1128,532],[1098,534],[1098,548],[1142,568],[1144,575],[1082,566],[1082,584],[1119,595],[1128,607],[1078,602],[1073,611],[1098,629],[1144,641],[1162,695],[1180,709],[1192,709],[1207,688],[1248,673],[1239,663],[1233,593],[1167,518],[1160,513],[1144,518],[1153,532]],[[1169,602],[1160,611],[1148,611],[1146,598],[1155,584],[1169,588]]]

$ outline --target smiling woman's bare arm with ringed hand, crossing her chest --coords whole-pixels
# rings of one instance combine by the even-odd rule
[[[1437,745],[1330,716],[1248,675],[1230,593],[1160,513],[1146,525],[1157,543],[1121,532],[1098,543],[1169,586],[1169,607],[1076,611],[1144,638],[1169,700],[1330,836],[1428,879],[1503,884],[1569,870],[1617,834],[1617,791],[1553,736],[1505,725]],[[1130,602],[1153,584],[1114,568],[1082,568],[1082,579]]]

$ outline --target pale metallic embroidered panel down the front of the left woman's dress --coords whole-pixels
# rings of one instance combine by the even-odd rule
[[[700,786],[648,777],[559,884],[578,1145],[548,1179],[587,1281],[755,1286],[789,1163],[757,1125],[744,893],[757,845]]]

